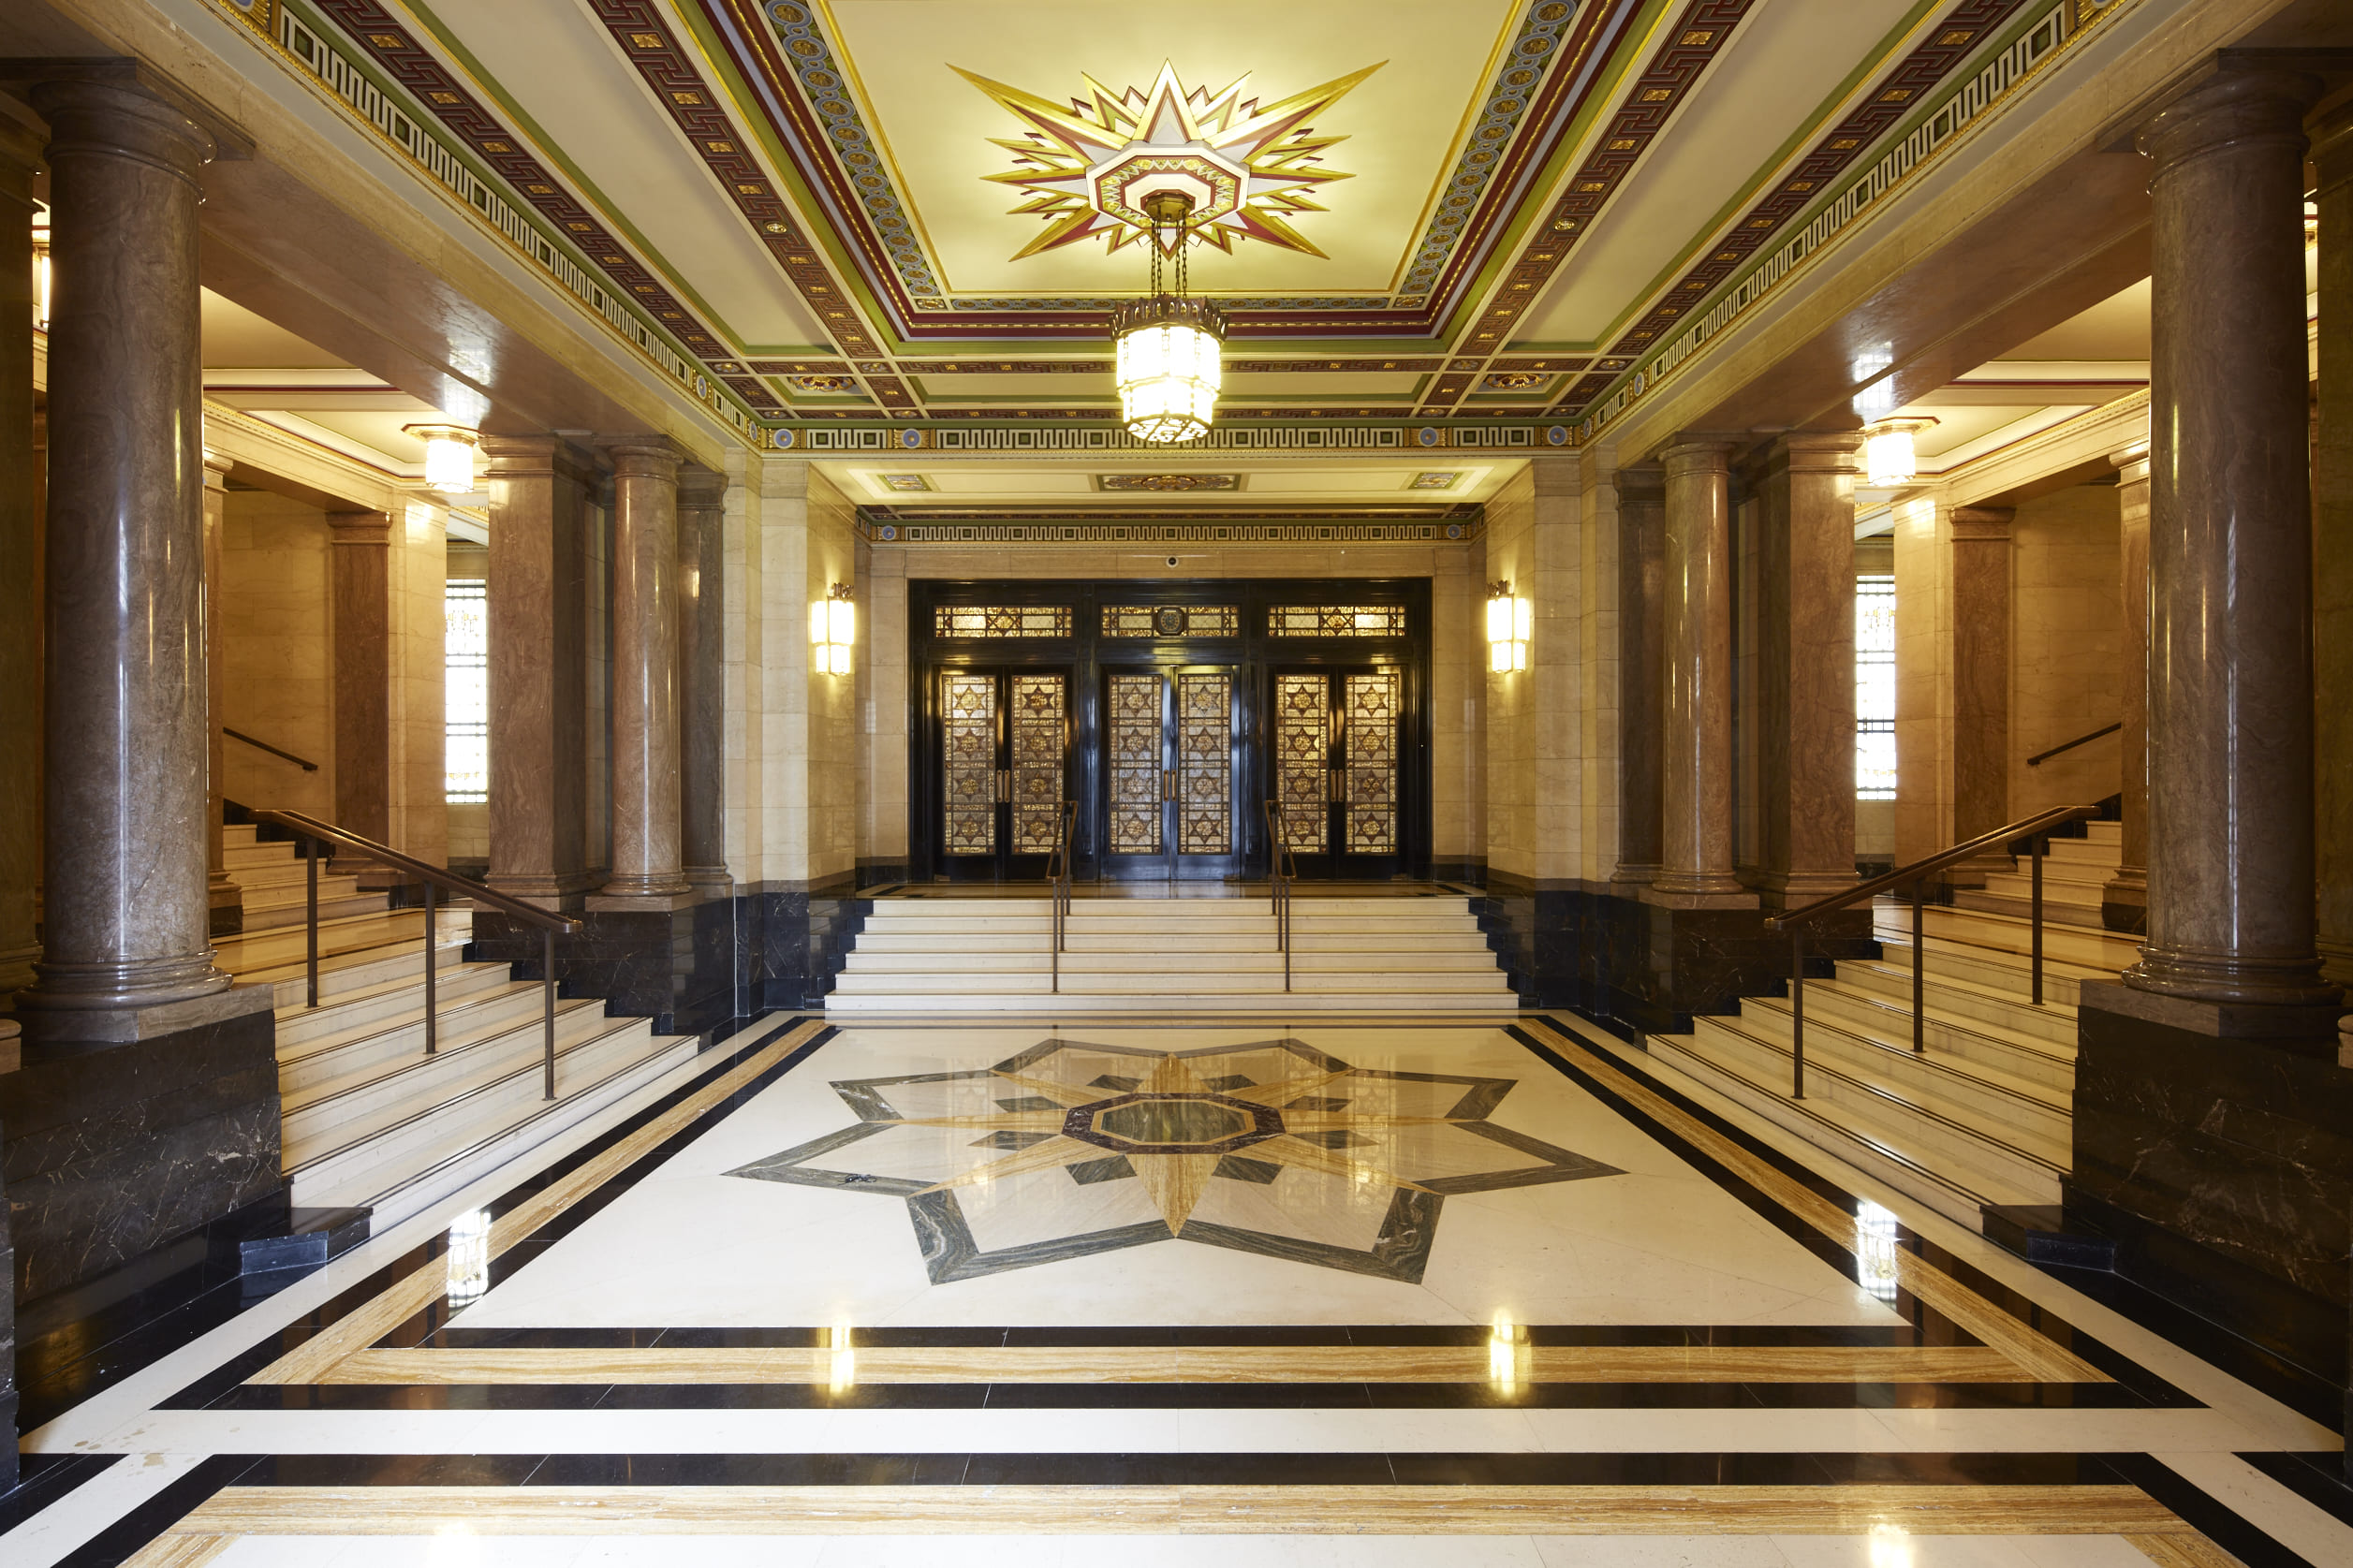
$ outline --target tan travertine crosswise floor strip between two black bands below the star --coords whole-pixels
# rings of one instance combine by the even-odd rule
[[[1958,1347],[1233,1345],[988,1349],[362,1349],[322,1382],[2026,1382],[2017,1361]]]

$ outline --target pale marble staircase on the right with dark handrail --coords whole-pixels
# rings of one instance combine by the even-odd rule
[[[2026,896],[2017,893],[2019,912],[2009,912],[2009,882],[1995,879],[1969,905],[1925,912],[1925,959],[1913,950],[1911,905],[1882,900],[1880,957],[1840,959],[1831,978],[1807,976],[1805,1100],[1791,1098],[1786,994],[1746,997],[1739,1013],[1697,1018],[1680,1037],[1652,1034],[1647,1048],[1972,1229],[1986,1204],[2057,1204],[2073,1150],[2078,985],[2115,978],[2139,957],[2139,938],[2099,929],[2113,835],[2073,846],[2071,867],[2092,867],[2097,879],[2066,877],[2089,898],[2075,896],[2071,919],[2059,919],[2052,889],[2061,879],[2045,865],[2040,1006]],[[1927,1051],[1918,1056],[1915,961],[1927,1004]]]

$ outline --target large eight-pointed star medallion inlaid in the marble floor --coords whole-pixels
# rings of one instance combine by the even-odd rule
[[[1299,1039],[1047,1039],[993,1067],[840,1079],[854,1124],[729,1175],[904,1199],[932,1284],[1153,1241],[1419,1284],[1447,1197],[1624,1175],[1489,1121],[1513,1084]]]

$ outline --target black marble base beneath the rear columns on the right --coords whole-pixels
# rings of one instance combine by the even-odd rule
[[[1473,910],[1522,1006],[1574,1009],[1628,1037],[1680,1034],[1788,985],[1788,938],[1767,936],[1762,910],[1666,910],[1631,893],[1489,872]],[[1878,957],[1871,910],[1817,922],[1807,973],[1842,957]]]

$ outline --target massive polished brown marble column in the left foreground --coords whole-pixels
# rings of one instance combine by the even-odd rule
[[[198,169],[129,80],[45,80],[49,322],[45,952],[26,1037],[127,1041],[242,1011],[205,896]],[[266,990],[261,992],[266,999]]]

